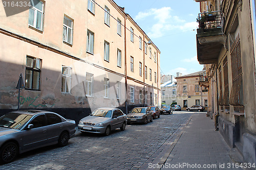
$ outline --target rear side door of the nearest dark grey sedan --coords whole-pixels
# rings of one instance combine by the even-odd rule
[[[47,119],[48,141],[49,143],[56,142],[63,131],[62,120],[54,113],[45,113],[45,115]]]

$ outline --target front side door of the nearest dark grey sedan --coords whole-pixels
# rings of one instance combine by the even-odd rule
[[[23,131],[23,149],[28,150],[33,148],[39,148],[41,145],[47,144],[47,128],[46,128],[46,116],[40,114],[35,116],[28,124],[33,124],[32,129],[26,129]]]

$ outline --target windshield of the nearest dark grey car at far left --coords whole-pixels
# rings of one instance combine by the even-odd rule
[[[0,127],[19,130],[28,122],[31,117],[32,115],[29,114],[11,112],[0,117]]]

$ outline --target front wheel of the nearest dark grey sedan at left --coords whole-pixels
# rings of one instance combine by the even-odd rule
[[[0,154],[1,154],[0,159],[2,163],[9,163],[13,161],[18,155],[17,144],[14,142],[8,142],[4,144],[0,150]]]

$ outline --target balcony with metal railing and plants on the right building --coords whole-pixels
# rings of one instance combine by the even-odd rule
[[[199,13],[197,22],[197,57],[200,64],[217,64],[224,47],[220,11]]]

